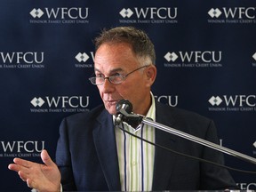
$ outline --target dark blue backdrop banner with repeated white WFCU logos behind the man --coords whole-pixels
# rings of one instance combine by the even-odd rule
[[[254,0],[2,0],[0,25],[0,190],[29,190],[7,169],[12,158],[54,157],[61,119],[101,103],[88,80],[92,39],[116,26],[142,28],[156,45],[156,100],[212,118],[222,146],[256,157]],[[256,188],[255,175],[230,172]]]

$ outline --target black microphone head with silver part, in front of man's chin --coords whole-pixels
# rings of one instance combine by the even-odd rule
[[[125,116],[132,113],[132,103],[129,100],[119,100],[116,103],[116,124],[121,124]]]

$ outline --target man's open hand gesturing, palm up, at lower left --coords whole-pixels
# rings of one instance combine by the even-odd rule
[[[14,164],[8,168],[18,172],[20,179],[27,182],[29,188],[38,191],[60,191],[60,171],[46,150],[41,152],[44,164],[36,164],[20,158],[14,158]]]

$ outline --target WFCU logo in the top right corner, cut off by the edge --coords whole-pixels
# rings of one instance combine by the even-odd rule
[[[256,7],[221,7],[208,11],[209,23],[256,23]]]

